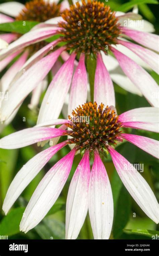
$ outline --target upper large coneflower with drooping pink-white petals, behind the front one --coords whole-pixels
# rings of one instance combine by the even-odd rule
[[[27,68],[30,67],[28,70],[24,65],[23,68],[26,72],[22,74],[21,70],[16,76],[18,79],[12,83],[8,90],[10,100],[2,101],[0,113],[2,122],[8,119],[23,99],[39,85],[53,67],[58,56],[66,50],[70,52],[70,57],[58,70],[47,89],[40,108],[38,124],[59,117],[71,81],[68,114],[78,104],[87,101],[88,82],[85,60],[87,61],[90,56],[97,59],[94,92],[98,92],[98,104],[103,102],[105,105],[115,106],[113,83],[105,65],[107,57],[113,58],[111,56],[113,54],[131,83],[130,85],[124,79],[126,82],[123,83],[124,87],[126,88],[127,85],[130,91],[129,86],[133,85],[134,88],[136,86],[138,92],[143,94],[152,106],[158,107],[158,85],[155,80],[134,60],[117,50],[118,46],[120,46],[119,49],[124,47],[126,54],[128,51],[135,53],[153,70],[158,71],[158,54],[156,53],[158,51],[158,36],[124,26],[124,21],[139,18],[139,14],[115,14],[104,3],[91,0],[86,3],[83,0],[81,4],[77,2],[76,5],[70,6],[70,9],[63,11],[61,16],[56,25],[50,25],[47,22],[38,24],[30,32],[11,43],[7,50],[3,49],[0,52],[1,59],[7,56],[9,58],[16,51],[55,34],[59,35],[59,38],[50,45],[54,46],[57,42],[65,43],[56,51],[42,58],[50,50],[50,45],[46,45],[28,60]],[[130,42],[130,40],[136,43]],[[79,63],[73,75],[75,58],[79,59]],[[113,59],[116,60],[115,58]],[[107,64],[109,66],[109,62]],[[114,77],[114,81],[118,80],[119,85],[121,85],[121,79],[123,78],[120,74]],[[96,98],[94,99],[96,100]]]

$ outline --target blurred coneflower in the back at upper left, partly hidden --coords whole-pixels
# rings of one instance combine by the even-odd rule
[[[60,12],[63,11],[65,8],[68,8],[68,2],[64,0],[61,4],[58,4],[56,0],[32,0],[27,2],[25,5],[18,3],[18,2],[9,2],[0,4],[0,23],[7,23],[7,22],[14,22],[14,21],[37,21],[37,22],[48,22],[49,24],[56,24],[60,17]],[[9,17],[8,14],[13,18]],[[21,23],[23,26],[23,23]],[[18,33],[3,33],[0,34],[0,46],[2,48],[6,48],[8,45],[7,43],[11,43],[15,41],[21,34]],[[18,72],[23,71],[24,69],[27,70],[34,63],[34,58],[31,59],[32,62],[27,62],[32,55],[37,53],[40,49],[43,48],[41,52],[41,58],[47,54],[49,51],[51,52],[51,47],[55,46],[58,43],[54,41],[54,43],[48,44],[47,42],[40,41],[35,44],[28,45],[24,47],[24,49],[17,49],[13,54],[8,56],[7,58],[3,59],[0,63],[0,70],[2,71],[16,56],[18,56],[17,60],[11,65],[11,67],[5,72],[5,74],[1,78],[1,86],[0,91],[5,93],[9,89],[11,82],[15,81],[16,75]],[[46,47],[45,47],[46,46]],[[36,57],[38,58],[38,54]],[[61,56],[63,57],[63,56]],[[41,93],[45,90],[47,86],[47,81],[44,79],[39,83],[37,88],[33,90],[31,104],[29,105],[30,108],[35,108],[39,103],[39,98]],[[0,101],[2,100],[2,97]],[[1,102],[0,102],[1,104]],[[11,120],[16,115],[18,108],[12,113],[10,118],[6,120],[5,124],[0,125],[0,130],[11,122]]]

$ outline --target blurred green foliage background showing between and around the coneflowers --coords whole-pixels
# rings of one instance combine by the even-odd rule
[[[8,1],[0,1],[0,3],[2,2]],[[26,1],[18,2],[25,3]],[[109,0],[106,2],[106,4],[109,4],[112,10],[120,10],[120,8],[124,6],[125,3],[129,2],[130,1]],[[156,30],[155,33],[158,34],[158,6],[156,4],[145,4],[144,1],[134,0],[131,2],[133,2],[134,5],[139,3],[139,14],[141,14],[145,20],[148,20],[154,25]],[[132,7],[128,9],[128,11],[131,10]],[[7,68],[11,64],[12,63],[10,63]],[[6,72],[7,68],[3,70],[1,76]],[[148,72],[158,83],[159,78],[157,74],[154,71]],[[114,84],[114,87],[118,115],[129,109],[150,106],[144,97],[128,93],[116,84]],[[40,103],[42,102],[44,94],[45,92],[41,96]],[[25,99],[12,123],[1,132],[1,137],[6,136],[7,134],[10,134],[14,131],[33,127],[36,125],[38,108],[34,109],[34,111],[30,110],[28,108],[30,100],[31,95]],[[23,121],[24,117],[25,121]],[[62,114],[60,118],[63,118]],[[127,129],[127,132],[157,139],[157,134],[153,132],[132,129]],[[65,138],[61,138],[60,142],[64,139]],[[7,189],[15,174],[27,161],[29,161],[33,156],[41,152],[41,150],[46,149],[47,147],[49,147],[48,144],[46,144],[43,148],[38,147],[35,144],[18,150],[0,149],[0,235],[8,235],[8,239],[65,239],[65,205],[67,192],[73,173],[81,160],[80,155],[75,156],[69,178],[59,198],[47,216],[41,221],[41,223],[34,229],[30,230],[27,234],[19,231],[19,223],[22,217],[22,213],[24,212],[24,209],[40,180],[60,158],[62,158],[70,151],[68,146],[61,149],[54,157],[51,158],[48,164],[46,164],[46,166],[40,171],[36,178],[24,190],[7,216],[4,216],[2,211],[2,204]],[[119,146],[117,146],[116,149],[130,163],[144,164],[144,172],[142,173],[142,176],[146,179],[154,191],[157,199],[159,200],[159,165],[157,159],[140,150],[136,146],[130,144],[129,142],[121,143]],[[153,234],[159,234],[159,226],[157,226],[144,214],[144,212],[140,209],[137,203],[132,199],[127,190],[124,188],[114,168],[111,158],[103,158],[102,160],[109,175],[114,199],[114,221],[110,239],[152,239]],[[153,230],[153,232],[149,230]],[[78,238],[93,239],[89,215],[85,220]]]

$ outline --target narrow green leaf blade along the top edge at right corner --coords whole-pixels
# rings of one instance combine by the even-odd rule
[[[120,7],[116,8],[116,11],[129,11],[131,8],[134,7],[136,4],[158,4],[158,1],[156,0],[132,0],[128,3],[122,4]]]

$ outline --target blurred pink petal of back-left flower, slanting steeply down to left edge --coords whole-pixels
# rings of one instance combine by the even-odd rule
[[[2,91],[5,92],[9,88],[9,84],[21,68],[21,66],[25,63],[28,57],[28,51],[25,51],[17,61],[13,63],[13,65],[5,72],[5,74],[1,78],[1,86]]]

